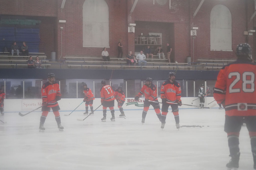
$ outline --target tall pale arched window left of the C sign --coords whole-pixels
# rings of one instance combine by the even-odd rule
[[[109,48],[109,7],[104,0],[83,3],[83,47]]]

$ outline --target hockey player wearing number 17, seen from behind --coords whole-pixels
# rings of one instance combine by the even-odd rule
[[[110,85],[106,85],[106,81],[101,81],[101,89],[100,89],[100,97],[101,97],[101,104],[103,106],[103,118],[101,119],[102,122],[106,122],[106,115],[107,115],[107,108],[110,109],[110,113],[112,117],[110,118],[111,121],[115,121],[115,96],[114,90],[111,88]]]

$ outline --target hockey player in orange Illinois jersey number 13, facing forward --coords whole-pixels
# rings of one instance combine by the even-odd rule
[[[172,107],[172,112],[176,122],[176,128],[179,129],[179,108],[182,105],[180,100],[181,88],[178,82],[175,81],[176,74],[174,72],[169,73],[169,80],[166,80],[161,87],[161,99],[162,99],[162,118],[161,128],[164,128],[166,115],[168,113],[169,106]],[[168,103],[170,102],[170,103]],[[172,103],[173,102],[173,103]],[[174,104],[177,103],[177,104]]]

